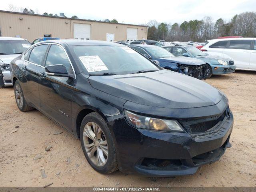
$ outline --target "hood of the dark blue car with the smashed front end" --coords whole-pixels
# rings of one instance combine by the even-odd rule
[[[205,64],[204,61],[196,58],[190,58],[190,57],[168,57],[168,58],[158,58],[158,61],[163,62],[172,62],[177,64],[185,64],[185,65],[203,65]]]

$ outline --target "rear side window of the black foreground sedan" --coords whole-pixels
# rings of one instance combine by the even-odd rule
[[[30,53],[29,61],[38,65],[42,65],[42,61],[44,59],[44,54],[47,47],[48,44],[38,45],[34,47]]]

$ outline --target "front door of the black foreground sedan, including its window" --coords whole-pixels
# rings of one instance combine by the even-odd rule
[[[75,74],[64,47],[50,44],[45,57],[45,66],[62,64],[69,73]],[[72,85],[74,79],[68,77],[44,76],[40,78],[40,108],[50,118],[72,131]]]

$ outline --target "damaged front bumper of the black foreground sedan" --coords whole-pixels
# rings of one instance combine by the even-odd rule
[[[194,174],[203,164],[219,160],[231,146],[232,113],[226,110],[224,115],[214,118],[218,123],[213,128],[198,132],[204,129],[200,122],[198,127],[191,126],[186,133],[136,129],[125,119],[116,120],[112,128],[120,170],[147,176]]]

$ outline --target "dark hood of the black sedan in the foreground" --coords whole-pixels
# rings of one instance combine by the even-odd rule
[[[113,96],[147,106],[194,108],[217,104],[222,95],[190,76],[161,70],[142,74],[90,76],[91,86]]]

